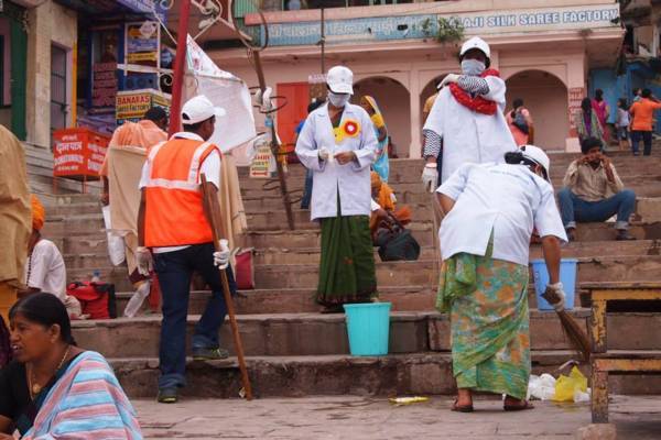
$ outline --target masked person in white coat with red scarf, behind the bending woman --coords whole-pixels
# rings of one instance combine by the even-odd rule
[[[464,43],[462,75],[449,74],[423,128],[422,182],[433,193],[465,163],[502,163],[517,145],[502,112],[505,81],[489,69],[489,45],[480,37]],[[438,178],[441,177],[441,178]]]

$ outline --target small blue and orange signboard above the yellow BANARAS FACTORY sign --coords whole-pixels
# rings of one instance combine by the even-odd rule
[[[160,66],[161,26],[154,21],[127,23],[126,63],[144,66]]]

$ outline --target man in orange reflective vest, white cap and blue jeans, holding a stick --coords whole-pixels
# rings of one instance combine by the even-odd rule
[[[161,284],[158,400],[164,404],[176,403],[178,388],[185,386],[186,318],[194,271],[212,287],[212,297],[195,326],[193,359],[228,356],[218,341],[227,314],[218,267],[226,271],[232,293],[236,284],[227,242],[220,241],[220,252],[215,252],[213,242],[210,219],[221,218],[217,196],[221,155],[218,146],[208,142],[216,118],[224,114],[224,109],[215,108],[204,96],[188,100],[182,108],[184,132],[152,147],[142,168],[137,260],[141,273],[149,274],[153,267]],[[210,206],[202,196],[203,174],[207,179],[204,189],[213,196]]]

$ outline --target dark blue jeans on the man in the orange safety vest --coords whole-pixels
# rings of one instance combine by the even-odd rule
[[[181,251],[154,254],[154,270],[163,295],[163,321],[159,359],[161,377],[159,388],[181,387],[186,384],[186,324],[188,297],[193,272],[202,274],[212,287],[212,297],[195,326],[193,348],[219,346],[218,330],[225,321],[227,305],[218,267],[214,266],[214,245],[195,244]],[[231,267],[226,270],[229,289],[236,293]]]

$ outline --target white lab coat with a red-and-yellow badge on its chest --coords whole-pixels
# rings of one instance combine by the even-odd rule
[[[310,113],[299,134],[296,155],[301,163],[313,170],[312,220],[337,217],[339,191],[340,216],[369,216],[371,206],[371,180],[369,167],[377,157],[377,138],[369,114],[359,106],[347,103],[339,127],[353,119],[360,124],[355,138],[345,138],[335,144],[328,105]],[[321,161],[318,150],[328,148],[332,155],[353,151],[357,161],[339,165],[337,161]]]

